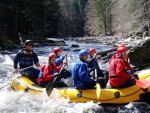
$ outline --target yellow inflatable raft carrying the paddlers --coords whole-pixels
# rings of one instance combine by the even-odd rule
[[[140,72],[139,79],[150,81],[150,70]],[[31,80],[24,76],[20,76],[12,81],[12,89],[15,91],[24,90],[25,92],[40,93],[45,88],[39,87]],[[133,101],[150,101],[150,86],[141,88],[138,85],[130,86],[123,89],[105,88],[97,92],[95,89],[76,89],[74,87],[58,88],[58,92],[64,98],[69,98],[70,102],[100,102],[109,104],[124,104]],[[99,97],[97,96],[99,93]]]

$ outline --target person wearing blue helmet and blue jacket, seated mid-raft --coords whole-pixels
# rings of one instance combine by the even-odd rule
[[[90,89],[96,86],[96,81],[88,76],[88,67],[86,64],[88,55],[87,50],[81,50],[78,54],[79,59],[71,68],[73,85],[79,89]],[[101,80],[97,80],[97,82],[100,83]]]

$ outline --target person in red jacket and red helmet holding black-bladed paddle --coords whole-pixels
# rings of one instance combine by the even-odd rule
[[[48,63],[41,67],[42,74],[39,74],[37,80],[41,87],[46,87],[50,81],[53,81],[54,77],[60,76],[58,72],[63,66],[63,64],[60,66],[55,65],[56,55],[54,53],[50,53],[48,58]],[[67,85],[65,85],[63,82],[57,81],[55,83],[55,87],[67,87]]]

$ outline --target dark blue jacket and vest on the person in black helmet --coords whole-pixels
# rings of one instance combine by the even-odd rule
[[[27,52],[26,50],[20,50],[14,58],[14,69],[17,69],[18,63],[20,69],[32,66],[33,63],[39,62],[37,54],[32,50]]]

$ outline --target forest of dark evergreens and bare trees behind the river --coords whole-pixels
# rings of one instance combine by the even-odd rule
[[[0,40],[150,33],[150,0],[1,0]]]

